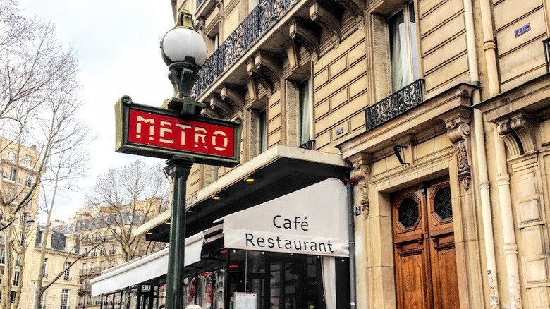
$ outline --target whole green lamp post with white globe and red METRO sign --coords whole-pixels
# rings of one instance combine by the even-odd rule
[[[185,183],[193,163],[233,167],[239,164],[240,118],[232,121],[200,115],[205,104],[191,97],[197,71],[206,60],[206,42],[184,12],[161,40],[173,97],[163,106],[132,102],[124,95],[115,104],[115,151],[164,158],[173,183],[166,308],[183,308],[185,261]]]

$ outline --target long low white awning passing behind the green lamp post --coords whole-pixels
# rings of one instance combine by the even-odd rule
[[[185,238],[185,266],[200,261],[203,243],[204,231]],[[169,247],[105,270],[99,277],[90,280],[92,296],[125,289],[166,274],[168,253]]]

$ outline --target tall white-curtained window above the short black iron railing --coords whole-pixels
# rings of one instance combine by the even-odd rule
[[[391,90],[396,92],[420,78],[415,5],[410,2],[388,20]]]

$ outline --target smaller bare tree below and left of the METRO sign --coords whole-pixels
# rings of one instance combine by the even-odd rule
[[[117,257],[122,258],[118,261],[105,257],[110,265],[158,250],[164,245],[146,242],[143,236],[135,236],[133,231],[167,209],[168,191],[169,181],[161,164],[148,166],[138,160],[126,166],[112,167],[99,176],[87,195],[90,219],[81,222],[81,231],[109,236],[112,241],[104,243],[101,253],[120,248],[121,255]]]

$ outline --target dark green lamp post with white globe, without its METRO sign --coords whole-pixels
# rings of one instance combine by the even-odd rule
[[[179,111],[182,118],[198,114],[205,105],[191,97],[197,71],[207,56],[206,42],[193,28],[193,17],[181,13],[176,26],[161,40],[161,54],[170,71],[173,97],[163,107]],[[170,251],[166,278],[166,308],[184,308],[183,270],[185,260],[185,183],[195,162],[193,157],[173,156],[166,161],[173,181]]]

